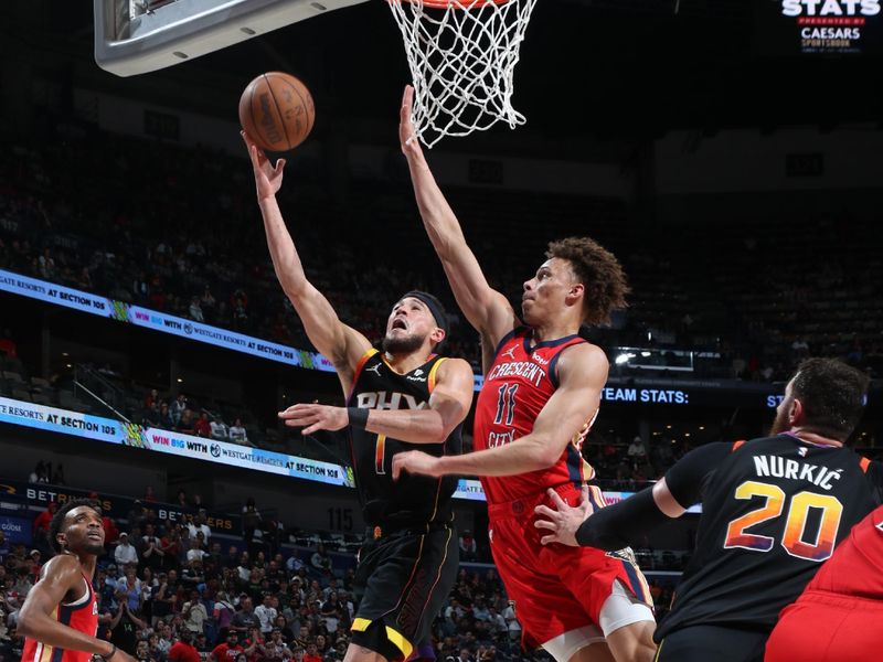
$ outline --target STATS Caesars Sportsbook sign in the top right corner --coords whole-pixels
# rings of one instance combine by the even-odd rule
[[[804,53],[860,53],[868,19],[880,0],[780,0],[781,15],[796,21]]]

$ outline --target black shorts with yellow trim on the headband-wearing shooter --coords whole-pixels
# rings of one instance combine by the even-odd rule
[[[418,643],[430,641],[433,620],[454,587],[457,534],[453,525],[428,533],[374,531],[359,552],[351,640],[387,660],[407,660]]]

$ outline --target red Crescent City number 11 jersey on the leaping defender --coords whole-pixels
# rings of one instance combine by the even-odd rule
[[[493,363],[478,395],[475,449],[496,448],[529,435],[536,416],[558,386],[556,367],[562,352],[584,342],[578,335],[567,335],[531,345],[531,329],[526,327],[507,334],[497,345]],[[514,501],[567,482],[578,488],[594,478],[595,470],[581,453],[597,410],[591,416],[552,467],[519,476],[482,477],[488,503]]]

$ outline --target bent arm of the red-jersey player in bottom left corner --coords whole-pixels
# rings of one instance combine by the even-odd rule
[[[102,655],[107,662],[135,662],[128,653],[102,639],[60,623],[50,613],[71,591],[83,588],[83,572],[74,556],[60,555],[46,563],[43,578],[28,592],[19,612],[18,633],[44,645]]]

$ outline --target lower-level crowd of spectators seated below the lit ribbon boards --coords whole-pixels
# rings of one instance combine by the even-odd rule
[[[138,660],[166,662],[174,645],[193,645],[204,660],[340,662],[355,609],[354,558],[336,563],[322,544],[312,549],[255,546],[249,535],[232,540],[212,531],[205,511],[185,521],[156,515],[148,496],[128,520],[105,513],[106,553],[93,586],[99,637]],[[181,496],[179,494],[179,496]],[[243,509],[254,509],[254,502]],[[55,504],[38,515],[44,532]],[[9,545],[0,532],[0,659],[13,660],[22,640],[18,609],[51,557],[44,533],[33,548]],[[469,531],[460,534],[462,560],[475,562]],[[661,600],[668,590],[651,589]],[[492,565],[462,566],[448,605],[436,615],[433,647],[438,660],[493,662],[547,660],[523,651],[513,606]]]

